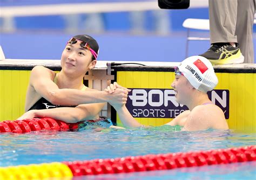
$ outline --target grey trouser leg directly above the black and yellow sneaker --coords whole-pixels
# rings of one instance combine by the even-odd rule
[[[209,20],[211,44],[217,42],[237,42],[237,0],[209,0]]]

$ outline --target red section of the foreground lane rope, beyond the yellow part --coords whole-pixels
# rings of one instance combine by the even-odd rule
[[[73,176],[86,176],[199,167],[245,161],[256,161],[256,146],[62,163],[68,165]]]

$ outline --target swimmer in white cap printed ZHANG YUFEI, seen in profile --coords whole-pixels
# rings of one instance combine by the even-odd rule
[[[175,80],[171,87],[176,93],[176,101],[189,110],[180,113],[166,125],[183,126],[185,131],[199,131],[208,128],[228,129],[223,111],[208,98],[207,91],[213,90],[218,78],[210,61],[203,56],[191,56],[175,67]],[[105,89],[112,93],[121,88],[117,83]],[[111,104],[111,103],[110,103]],[[139,127],[142,124],[134,119],[124,104],[112,105],[126,127]]]

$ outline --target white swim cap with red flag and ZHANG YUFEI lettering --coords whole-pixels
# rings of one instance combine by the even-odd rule
[[[179,64],[178,69],[201,92],[211,91],[218,84],[211,62],[203,56],[187,57]]]

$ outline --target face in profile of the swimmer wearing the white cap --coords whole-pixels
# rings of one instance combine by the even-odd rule
[[[175,75],[175,79],[172,82],[171,87],[175,92],[176,101],[179,104],[185,105],[193,92],[193,87],[190,82],[188,82],[187,78],[183,75]]]

